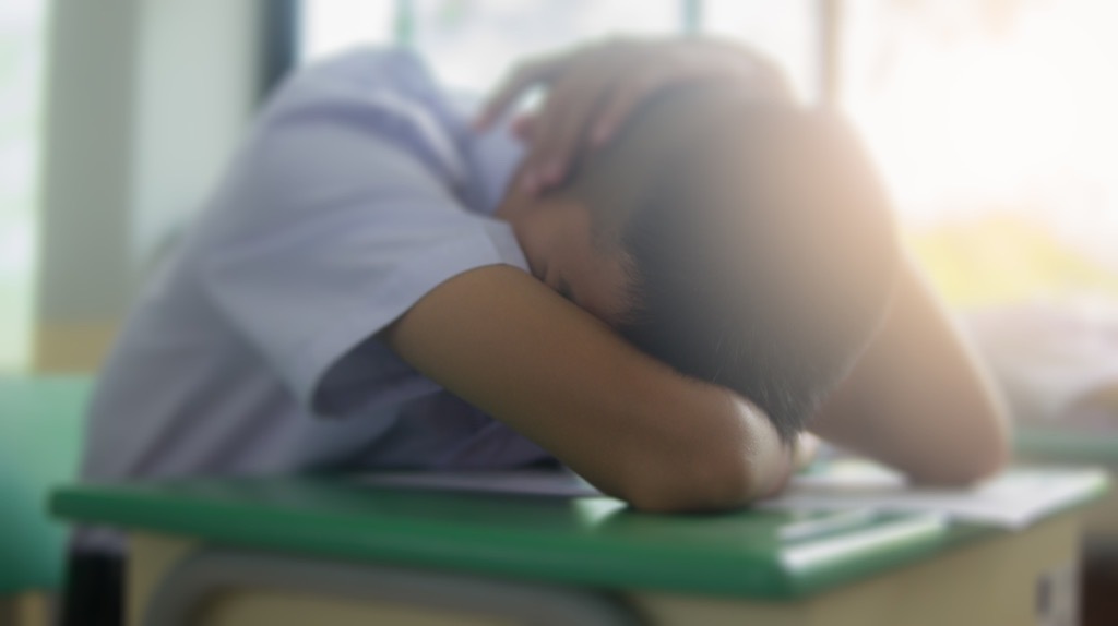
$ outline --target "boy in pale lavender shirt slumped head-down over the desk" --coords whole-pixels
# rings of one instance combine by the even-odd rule
[[[547,80],[525,134],[567,161],[473,128],[408,52],[292,77],[125,325],[84,476],[558,460],[639,509],[713,510],[780,489],[809,421],[917,480],[1001,464],[998,412],[837,118],[703,41],[534,67],[491,112]],[[579,156],[586,103],[642,68],[670,78]],[[119,598],[97,584],[121,548],[78,533],[69,619]]]

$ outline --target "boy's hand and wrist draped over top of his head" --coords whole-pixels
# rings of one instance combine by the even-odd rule
[[[681,84],[739,81],[758,97],[787,98],[778,69],[759,54],[712,39],[616,40],[519,66],[490,97],[475,126],[485,129],[534,87],[540,109],[517,121],[529,144],[523,185],[539,193],[561,183],[585,147],[608,143],[636,106]]]

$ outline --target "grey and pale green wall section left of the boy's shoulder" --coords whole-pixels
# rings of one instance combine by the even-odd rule
[[[260,9],[51,3],[35,369],[96,368],[155,249],[201,203],[255,105]]]

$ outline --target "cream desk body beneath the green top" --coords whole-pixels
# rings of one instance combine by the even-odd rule
[[[414,568],[385,564],[277,556],[138,534],[132,537],[130,560],[130,624],[186,624],[187,617],[197,617],[199,607],[205,607],[199,623],[207,625],[263,619],[259,623],[281,626],[285,623],[276,616],[285,614],[290,624],[297,624],[303,618],[292,613],[297,606],[292,598],[305,594],[320,598],[314,611],[335,608],[337,616],[331,614],[329,620],[339,626],[366,624],[370,615],[385,610],[394,611],[386,623],[424,626],[1073,626],[1078,624],[1078,534],[1079,513],[1068,512],[1021,532],[979,539],[925,562],[798,601],[652,589],[623,590],[622,598],[547,582],[429,570],[420,575]],[[209,576],[214,578],[206,580]],[[1036,608],[1042,586],[1052,593],[1046,614],[1038,614]],[[311,613],[306,609],[302,615]],[[238,617],[230,617],[234,614]],[[246,619],[248,615],[255,618]]]

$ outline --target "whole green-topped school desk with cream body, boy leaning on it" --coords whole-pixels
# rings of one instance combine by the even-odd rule
[[[75,485],[51,510],[127,530],[133,625],[1074,624],[1078,508],[1008,532],[303,478]]]

